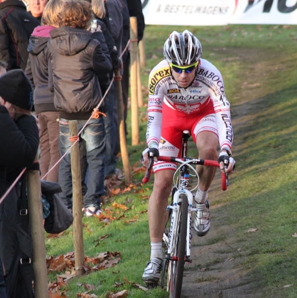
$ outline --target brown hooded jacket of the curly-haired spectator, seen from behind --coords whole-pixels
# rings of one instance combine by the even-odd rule
[[[92,38],[92,33],[79,28],[59,27],[50,35],[53,74],[49,84],[55,90],[55,107],[61,118],[89,119],[102,99],[99,79],[112,70],[107,46],[103,52],[103,45]],[[101,35],[104,38],[102,32]]]

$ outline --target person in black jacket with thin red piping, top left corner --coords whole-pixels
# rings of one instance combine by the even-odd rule
[[[22,1],[0,0],[0,60],[7,63],[7,70],[25,71],[29,38],[38,25]]]

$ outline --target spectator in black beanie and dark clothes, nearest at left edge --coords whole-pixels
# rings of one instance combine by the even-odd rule
[[[39,137],[36,120],[30,116],[32,105],[32,86],[22,70],[12,70],[0,76],[0,197],[36,157]],[[20,214],[20,206],[26,205],[24,177],[0,205],[0,257],[7,273],[8,297],[31,298],[33,272],[29,262],[28,216],[27,213]],[[23,288],[21,284],[27,287]]]

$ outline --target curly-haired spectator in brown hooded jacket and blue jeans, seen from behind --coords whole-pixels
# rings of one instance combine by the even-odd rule
[[[49,58],[53,75],[50,87],[55,90],[54,103],[60,111],[59,150],[61,156],[70,148],[69,120],[77,120],[78,131],[88,122],[80,138],[86,142],[88,179],[83,199],[85,216],[98,215],[100,197],[104,191],[104,166],[106,136],[103,115],[93,110],[102,99],[99,80],[112,70],[105,43],[92,38],[90,27],[92,6],[83,0],[66,1],[58,16],[59,28],[51,31]],[[99,28],[100,30],[100,28]],[[96,38],[104,38],[97,32]],[[104,39],[103,39],[104,41]],[[99,79],[98,79],[99,78]],[[72,207],[72,179],[70,152],[60,162],[59,184],[61,198]]]

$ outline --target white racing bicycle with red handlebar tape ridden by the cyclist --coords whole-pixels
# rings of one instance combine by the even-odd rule
[[[177,162],[180,163],[174,174],[174,187],[172,189],[172,203],[167,207],[169,213],[170,228],[163,234],[163,241],[166,245],[166,252],[164,256],[163,269],[161,275],[161,288],[164,288],[165,273],[167,274],[167,291],[170,292],[170,298],[180,298],[184,263],[191,263],[190,249],[191,249],[191,224],[192,212],[198,211],[193,206],[193,198],[195,194],[192,192],[197,189],[199,184],[199,176],[192,165],[205,165],[219,167],[219,162],[216,160],[207,159],[193,159],[187,157],[188,139],[190,138],[189,131],[183,131],[182,135],[182,157],[159,156],[158,161]],[[147,183],[150,179],[154,157],[149,156],[150,163],[146,170],[145,176],[142,179],[143,183]],[[225,169],[227,164],[225,164]],[[197,184],[194,188],[189,190],[190,169],[198,178]],[[176,178],[178,174],[178,177]],[[177,179],[177,183],[175,180]],[[222,173],[222,190],[226,190],[229,185],[228,175]]]

